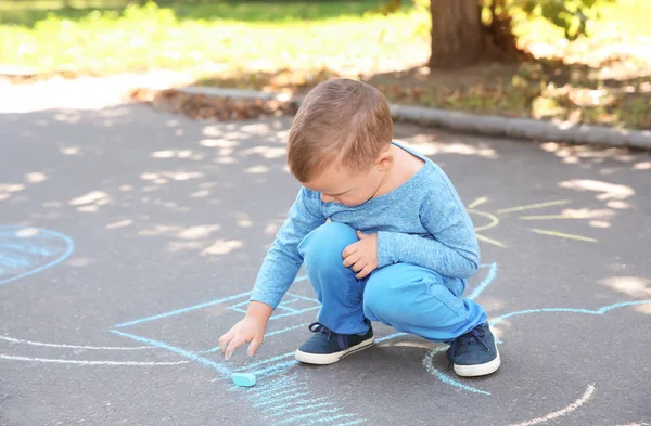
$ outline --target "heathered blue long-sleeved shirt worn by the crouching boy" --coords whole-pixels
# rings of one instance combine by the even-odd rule
[[[276,308],[303,264],[298,244],[326,223],[346,223],[378,233],[378,268],[414,263],[450,279],[467,280],[480,263],[474,227],[445,172],[425,156],[425,165],[406,183],[365,204],[323,203],[321,194],[302,188],[278,231],[258,273],[251,300]]]

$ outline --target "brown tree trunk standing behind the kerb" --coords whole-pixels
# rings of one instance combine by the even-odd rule
[[[431,0],[431,68],[459,68],[475,62],[484,50],[477,0]]]

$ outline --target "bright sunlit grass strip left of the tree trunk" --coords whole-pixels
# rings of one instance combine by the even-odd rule
[[[376,8],[371,0],[3,11],[0,63],[107,74],[207,62],[267,70],[386,55],[408,62],[400,46],[426,38],[426,15],[407,5],[387,17]]]

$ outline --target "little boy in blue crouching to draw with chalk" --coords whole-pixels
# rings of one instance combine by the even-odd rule
[[[395,142],[386,99],[335,79],[305,98],[288,164],[302,183],[258,274],[246,315],[219,339],[226,359],[253,356],[303,263],[322,304],[296,359],[331,364],[373,344],[372,321],[449,343],[460,376],[495,372],[486,312],[462,299],[480,264],[472,221],[429,158]]]

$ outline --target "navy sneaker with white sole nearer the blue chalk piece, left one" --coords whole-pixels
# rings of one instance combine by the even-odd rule
[[[306,364],[333,364],[347,354],[371,347],[375,341],[372,327],[366,334],[339,334],[315,322],[309,325],[309,331],[315,335],[295,353],[296,360]]]

